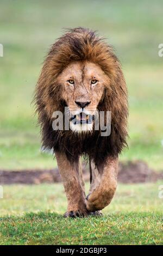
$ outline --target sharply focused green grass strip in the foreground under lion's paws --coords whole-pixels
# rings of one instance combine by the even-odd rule
[[[64,220],[60,215],[40,212],[0,220],[0,244],[161,245],[161,223],[161,214],[152,213]]]

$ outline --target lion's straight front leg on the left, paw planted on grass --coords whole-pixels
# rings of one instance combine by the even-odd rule
[[[84,217],[87,215],[85,194],[80,181],[80,163],[68,161],[65,154],[55,153],[59,172],[68,200],[65,217]]]

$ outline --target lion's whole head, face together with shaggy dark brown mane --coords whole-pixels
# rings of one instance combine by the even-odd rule
[[[126,145],[128,104],[121,65],[112,47],[89,29],[70,29],[51,47],[35,102],[45,148],[65,151],[69,159],[87,154],[96,161],[97,156],[118,155]],[[54,131],[53,112],[64,112],[65,106],[71,130]],[[92,117],[99,111],[111,111],[111,134],[106,138],[93,130]],[[87,132],[79,136],[83,130]]]

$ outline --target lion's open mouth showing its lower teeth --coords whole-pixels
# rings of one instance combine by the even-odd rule
[[[71,115],[70,121],[72,121],[73,124],[91,124],[94,119],[94,115],[87,115],[81,112],[77,115]]]

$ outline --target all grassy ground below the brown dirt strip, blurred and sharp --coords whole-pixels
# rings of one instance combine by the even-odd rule
[[[62,217],[66,198],[61,184],[4,186],[0,244],[163,244],[160,184],[119,184],[103,217],[78,220]]]

